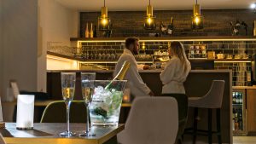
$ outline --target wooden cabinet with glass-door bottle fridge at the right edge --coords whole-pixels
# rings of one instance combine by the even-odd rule
[[[256,86],[232,87],[233,135],[256,135]]]

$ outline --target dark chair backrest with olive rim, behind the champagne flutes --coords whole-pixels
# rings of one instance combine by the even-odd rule
[[[70,123],[86,123],[84,101],[73,101],[70,106]],[[44,109],[41,123],[66,123],[67,111],[65,101],[54,101]]]

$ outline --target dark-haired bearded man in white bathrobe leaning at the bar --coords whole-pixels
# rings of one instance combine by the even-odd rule
[[[138,48],[139,42],[137,37],[127,37],[125,39],[125,49],[123,54],[119,57],[113,76],[117,75],[124,61],[128,60],[131,63],[131,66],[125,75],[125,79],[128,80],[126,88],[131,89],[131,95],[134,97],[154,95],[147,84],[144,84],[143,79],[138,73],[137,61],[134,57],[134,55],[138,55]]]

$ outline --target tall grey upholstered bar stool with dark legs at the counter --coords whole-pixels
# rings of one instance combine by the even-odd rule
[[[216,133],[218,135],[218,143],[222,143],[220,131],[220,108],[224,94],[224,84],[224,80],[213,80],[211,89],[207,92],[207,95],[202,97],[189,97],[189,107],[195,107],[194,127],[192,128],[193,144],[195,144],[196,141],[197,131],[207,132],[209,144],[212,144],[212,133]],[[198,115],[198,108],[208,109],[208,130],[197,130],[196,118]],[[212,109],[216,109],[217,132],[212,131]]]

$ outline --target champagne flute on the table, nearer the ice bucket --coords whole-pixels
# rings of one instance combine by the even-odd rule
[[[96,78],[95,72],[81,72],[81,85],[82,85],[82,95],[84,99],[84,104],[86,107],[86,130],[80,136],[94,136],[95,134],[90,134],[89,127],[90,127],[90,102],[92,101],[92,95],[94,93],[94,80]]]

